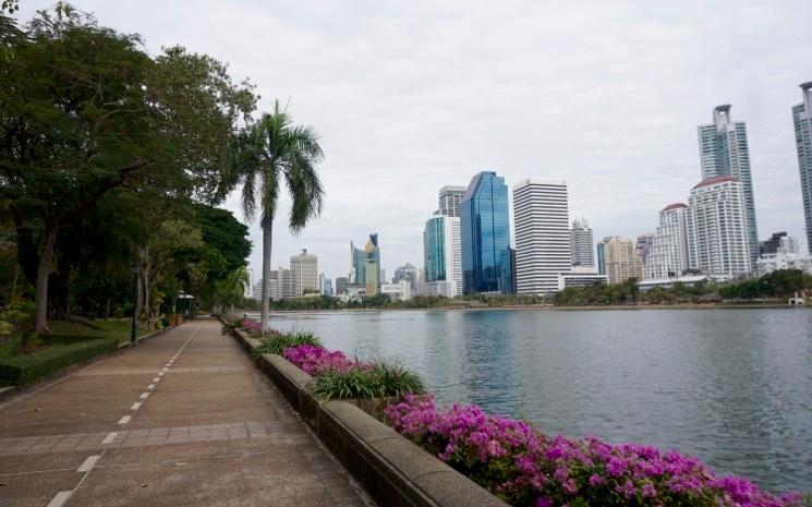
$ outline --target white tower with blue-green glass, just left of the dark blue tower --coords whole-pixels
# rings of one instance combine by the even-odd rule
[[[460,219],[437,215],[423,230],[423,269],[432,295],[453,298],[462,291]],[[457,253],[457,255],[455,255]]]

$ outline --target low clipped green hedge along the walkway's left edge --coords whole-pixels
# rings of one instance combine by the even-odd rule
[[[60,338],[62,337],[46,339],[46,341],[56,341],[60,345],[53,345],[29,354],[1,358],[0,385],[24,386],[47,378],[64,367],[112,352],[119,345],[118,338],[77,339],[71,337],[65,340]]]

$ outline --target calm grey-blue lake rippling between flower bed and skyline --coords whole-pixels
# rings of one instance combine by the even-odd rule
[[[276,313],[328,348],[398,359],[441,402],[699,456],[774,492],[812,491],[812,312]]]

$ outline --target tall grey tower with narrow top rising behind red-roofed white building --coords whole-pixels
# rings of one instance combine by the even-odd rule
[[[750,148],[743,121],[730,120],[730,105],[717,106],[713,123],[699,125],[702,179],[730,176],[741,182],[750,263],[759,258],[759,231],[755,224],[753,180],[750,173]]]

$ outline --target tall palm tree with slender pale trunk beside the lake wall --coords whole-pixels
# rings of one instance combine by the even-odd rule
[[[268,330],[271,232],[280,186],[288,188],[293,201],[288,227],[296,234],[311,218],[322,214],[324,189],[316,173],[316,164],[322,159],[324,153],[316,131],[291,124],[287,108],[281,109],[279,100],[274,102],[274,112],[264,114],[246,131],[237,158],[243,212],[249,220],[259,212],[263,228],[263,333]]]

